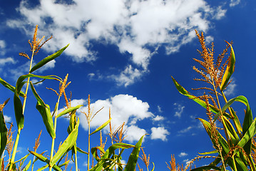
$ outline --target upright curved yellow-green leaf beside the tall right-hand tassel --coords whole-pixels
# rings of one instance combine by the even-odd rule
[[[230,45],[230,61],[227,63],[226,71],[222,78],[222,83],[220,84],[220,90],[224,90],[227,86],[228,81],[230,81],[230,77],[232,76],[232,73],[235,71],[235,53],[230,43],[226,41],[227,44]]]

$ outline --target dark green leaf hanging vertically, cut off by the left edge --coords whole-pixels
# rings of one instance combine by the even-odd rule
[[[0,112],[0,158],[7,143],[7,127],[4,122],[4,113],[3,111]],[[1,167],[0,167],[1,169]]]

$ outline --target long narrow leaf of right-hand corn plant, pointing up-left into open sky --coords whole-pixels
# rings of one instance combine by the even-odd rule
[[[180,84],[175,81],[175,79],[173,78],[172,76],[172,79],[173,79],[173,83],[175,84],[175,87],[178,89],[178,91],[182,94],[182,95],[185,95],[187,96],[188,98],[194,100],[196,103],[198,103],[199,105],[203,106],[203,108],[207,108],[207,105],[205,103],[205,101],[203,100],[200,100],[199,98],[197,98],[195,95],[191,95],[187,90],[185,90],[185,88],[183,88],[183,86],[180,86]],[[218,113],[219,112],[219,109],[218,108],[215,108],[213,105],[209,105],[209,108],[210,110],[213,112],[213,113]]]

